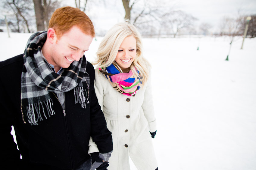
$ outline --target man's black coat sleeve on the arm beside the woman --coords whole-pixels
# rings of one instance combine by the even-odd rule
[[[90,63],[89,63],[90,64]],[[100,153],[108,153],[113,150],[111,132],[107,128],[107,123],[94,89],[95,70],[92,64],[89,65],[90,77],[90,112],[91,112],[91,137],[97,144]],[[87,70],[87,68],[86,68]]]

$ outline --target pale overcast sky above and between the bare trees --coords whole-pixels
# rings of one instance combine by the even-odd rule
[[[74,2],[74,0],[64,0],[64,3],[73,7],[75,7]],[[213,31],[217,31],[224,16],[235,18],[239,10],[242,15],[256,14],[256,0],[155,0],[153,2],[189,13],[198,19],[195,25],[206,22],[213,26]],[[105,4],[103,0],[101,3],[95,1],[93,3],[86,13],[92,19],[96,30],[108,30],[115,23],[123,20],[125,11],[122,0],[105,0]]]

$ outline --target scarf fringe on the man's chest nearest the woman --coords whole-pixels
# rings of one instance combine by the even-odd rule
[[[86,103],[89,103],[87,93],[89,93],[89,91],[87,92],[83,87],[74,88],[75,104],[80,103],[83,109],[86,108]]]

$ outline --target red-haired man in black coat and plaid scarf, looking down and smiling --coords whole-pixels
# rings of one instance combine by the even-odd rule
[[[112,136],[95,96],[94,68],[84,56],[94,36],[84,12],[62,7],[47,32],[30,37],[24,54],[0,62],[1,169],[90,169],[90,136],[99,150],[93,162],[109,157]]]

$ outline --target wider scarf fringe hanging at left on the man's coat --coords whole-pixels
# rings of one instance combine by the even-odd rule
[[[45,106],[45,107],[44,107]],[[27,113],[27,120],[31,125],[38,125],[39,121],[43,121],[44,118],[47,119],[45,115],[45,109],[48,113],[48,118],[55,115],[52,108],[53,102],[51,99],[40,103],[29,104],[28,106],[23,106],[24,112]],[[40,109],[43,111],[43,115],[40,114]]]

